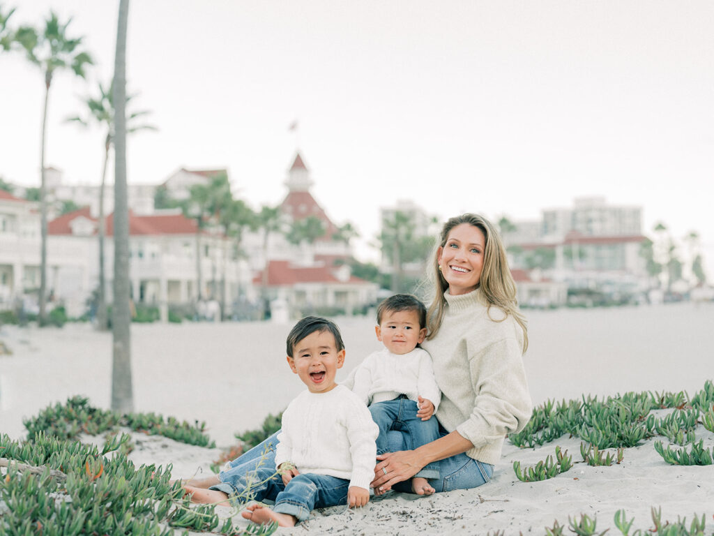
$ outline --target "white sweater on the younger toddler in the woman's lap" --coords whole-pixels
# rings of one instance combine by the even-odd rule
[[[436,411],[441,399],[431,357],[421,348],[406,354],[393,354],[386,348],[373,352],[352,369],[342,384],[367,405],[406,394],[414,402],[420,396],[430,400]]]

